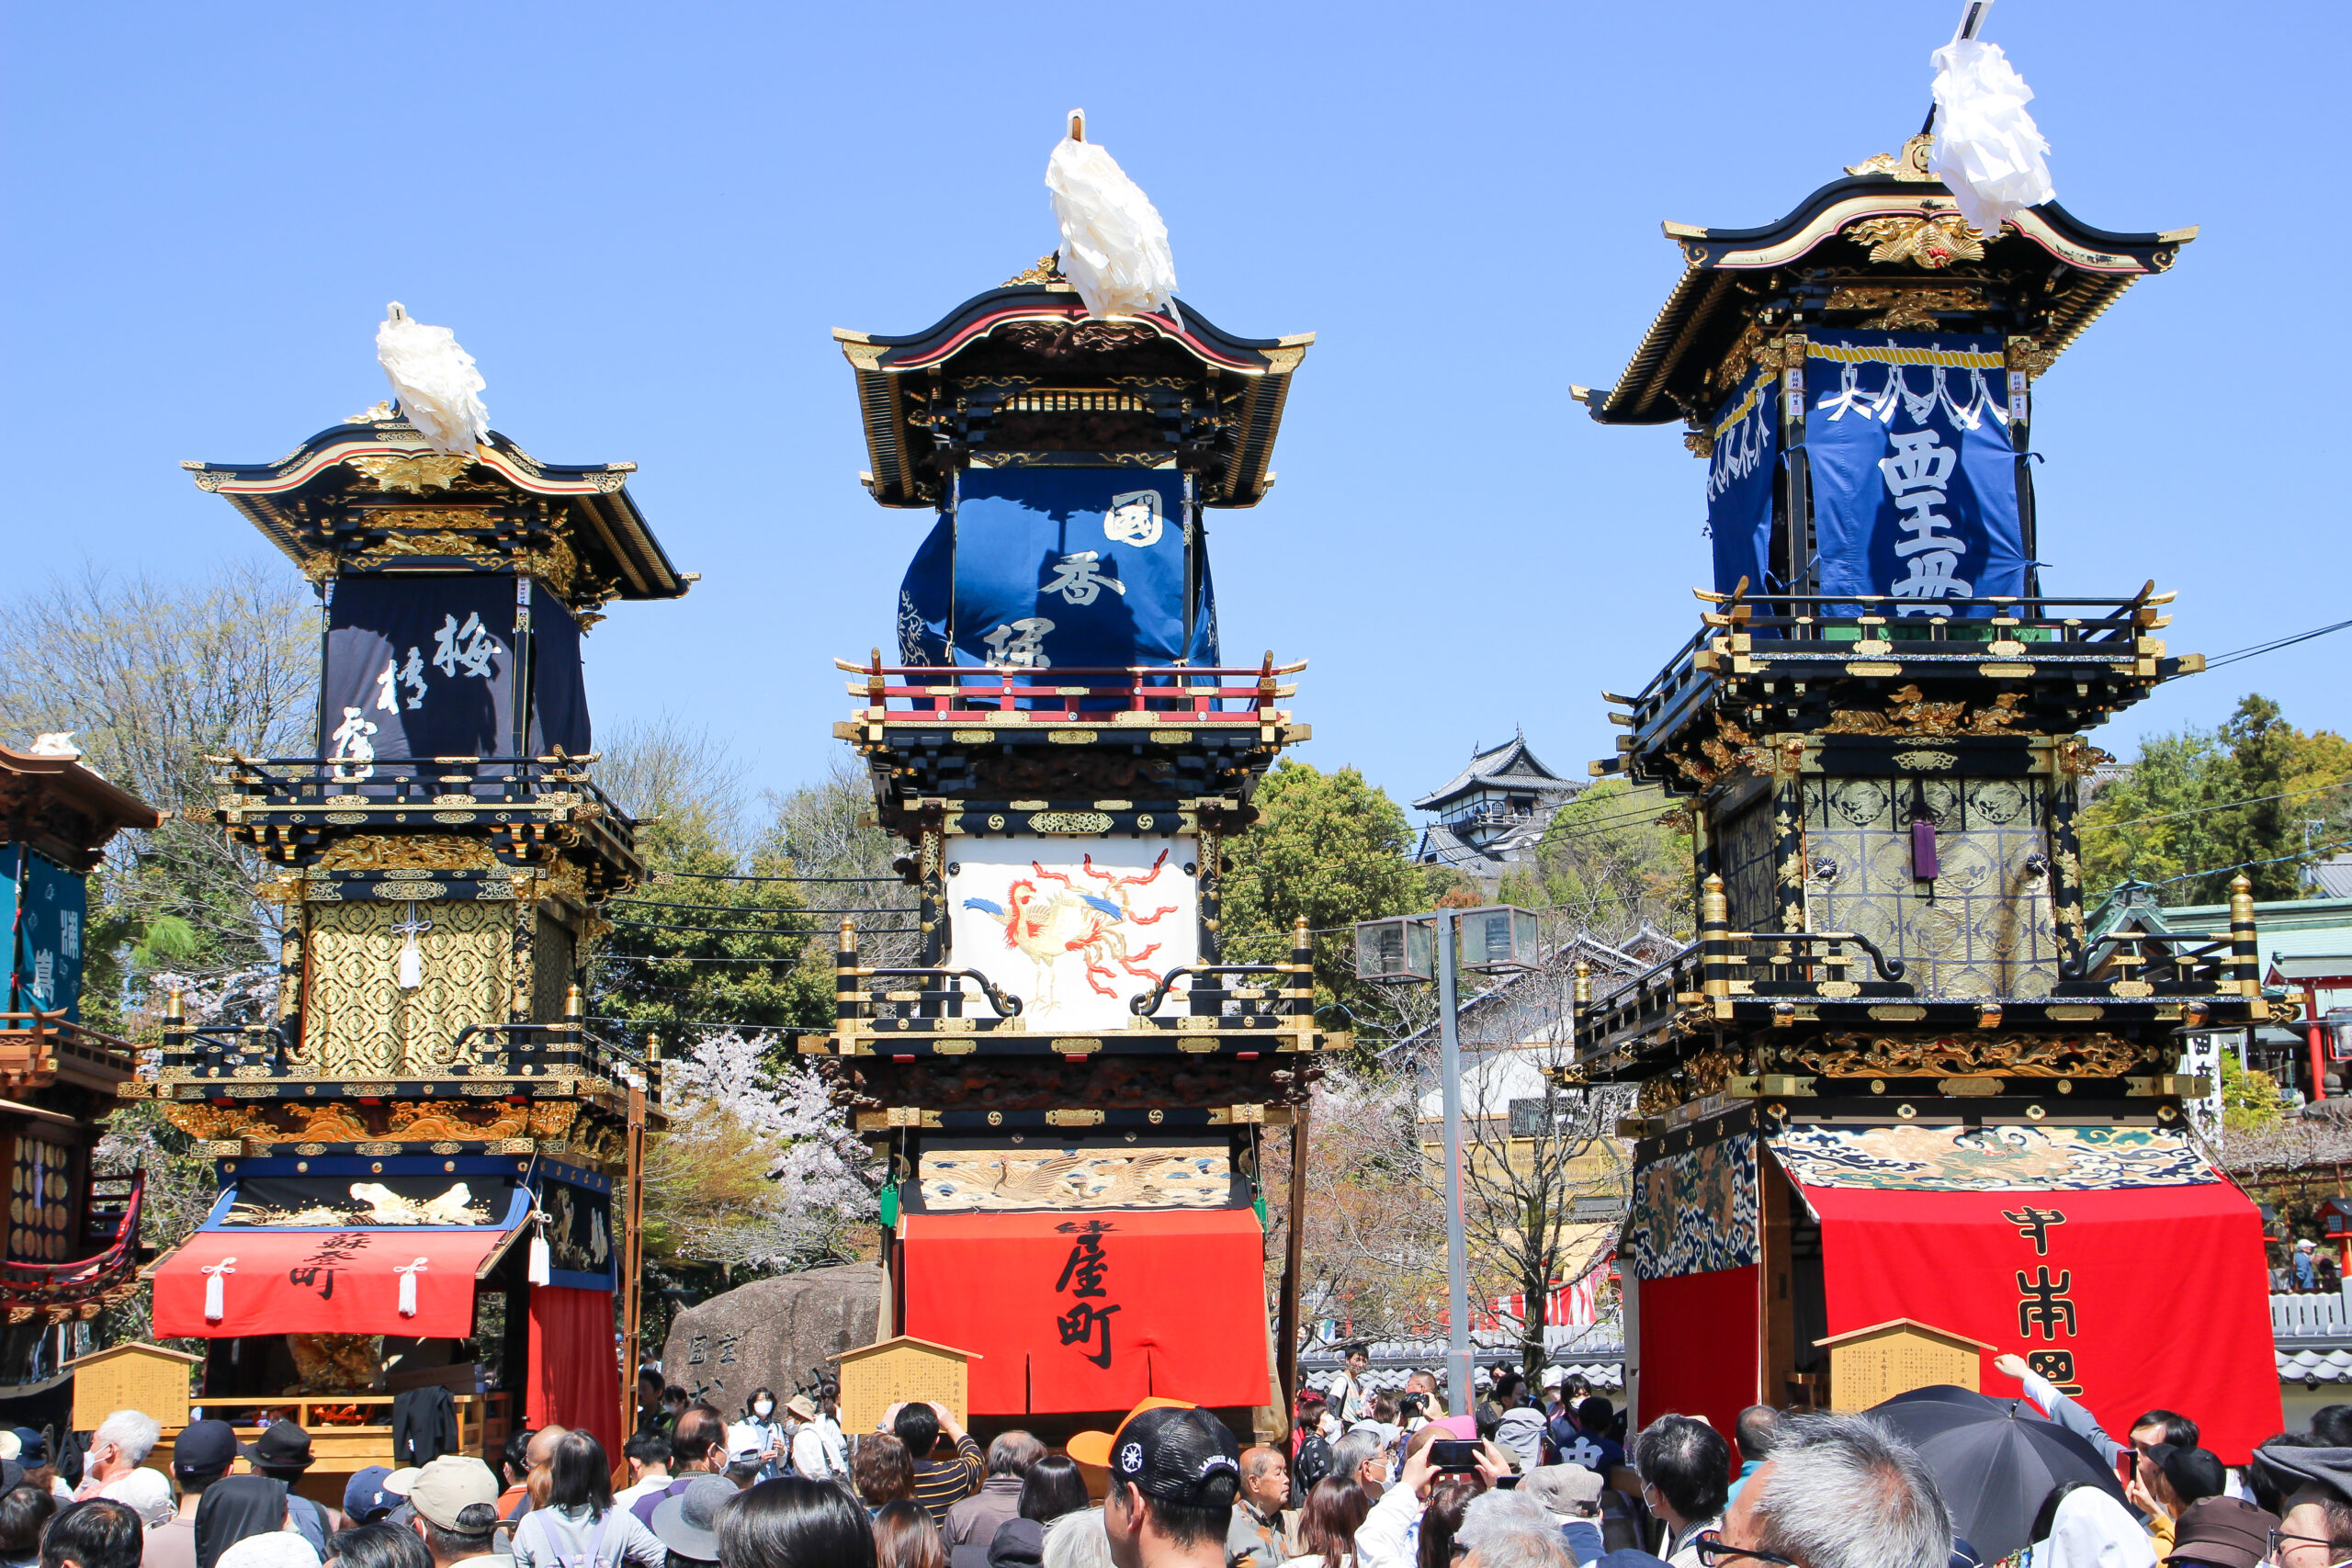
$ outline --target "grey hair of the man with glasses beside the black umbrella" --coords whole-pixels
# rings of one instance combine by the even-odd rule
[[[1762,1486],[1759,1486],[1762,1483]],[[1806,1568],[1945,1568],[1952,1516],[1919,1453],[1867,1415],[1783,1415],[1757,1547]]]

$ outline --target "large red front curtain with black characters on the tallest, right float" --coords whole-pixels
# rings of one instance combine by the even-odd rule
[[[1830,1333],[1907,1316],[2018,1352],[2124,1441],[2192,1418],[2227,1465],[2279,1432],[2263,1220],[2230,1182],[2098,1192],[1802,1187],[1820,1215]],[[1642,1349],[1649,1359],[1646,1298]],[[1644,1406],[1649,1392],[1644,1389]]]

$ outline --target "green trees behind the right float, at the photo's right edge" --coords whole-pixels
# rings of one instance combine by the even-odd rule
[[[2166,903],[2220,903],[2244,867],[2256,898],[2296,898],[2303,867],[2352,837],[2347,780],[2352,743],[2249,693],[2220,729],[2140,743],[2082,813],[2084,882],[2093,900],[2131,879]]]

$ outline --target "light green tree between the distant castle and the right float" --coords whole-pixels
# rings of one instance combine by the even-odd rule
[[[1583,790],[1543,830],[1534,865],[1503,877],[1503,903],[1545,910],[1548,926],[1590,931],[1609,943],[1632,936],[1642,922],[1689,936],[1691,835],[1661,823],[1670,806],[1663,790],[1623,778]]]

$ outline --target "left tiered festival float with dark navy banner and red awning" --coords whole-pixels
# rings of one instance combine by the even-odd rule
[[[590,776],[581,635],[691,576],[630,463],[437,451],[383,404],[278,463],[191,468],[318,583],[322,684],[313,755],[214,759],[219,823],[289,914],[275,1006],[174,1009],[160,1079],[125,1086],[221,1175],[155,1267],[155,1328],[212,1340],[207,1410],[445,1380],[468,1450],[557,1420],[619,1453],[616,1185],[654,1063],[581,1016],[597,910],[642,875]],[[475,1342],[477,1295],[503,1340]]]

